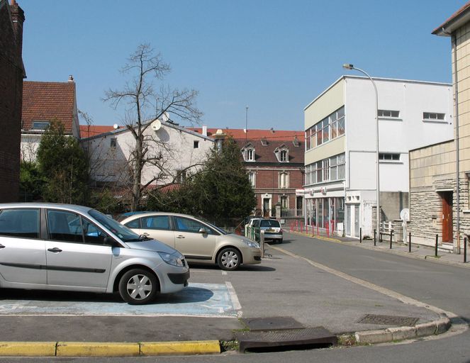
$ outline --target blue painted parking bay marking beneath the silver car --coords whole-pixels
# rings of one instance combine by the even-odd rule
[[[79,295],[77,295],[79,296]],[[108,301],[59,299],[0,299],[0,315],[114,315],[114,316],[208,316],[235,317],[240,304],[230,284],[189,284],[177,294],[157,296],[148,305],[128,305],[116,298]]]

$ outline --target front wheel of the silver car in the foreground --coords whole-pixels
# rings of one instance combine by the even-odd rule
[[[130,305],[142,305],[152,301],[158,290],[158,281],[152,272],[131,269],[119,281],[119,294]]]

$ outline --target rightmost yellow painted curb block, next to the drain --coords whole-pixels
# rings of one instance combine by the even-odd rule
[[[164,354],[220,354],[218,340],[203,340],[194,342],[142,342],[142,355]]]

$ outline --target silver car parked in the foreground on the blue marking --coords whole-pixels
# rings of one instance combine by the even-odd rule
[[[0,203],[0,288],[119,291],[144,304],[188,285],[180,252],[103,213],[54,203]]]

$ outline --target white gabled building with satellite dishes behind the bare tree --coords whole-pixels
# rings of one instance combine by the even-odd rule
[[[188,128],[165,121],[148,121],[144,132],[146,159],[142,185],[164,185],[182,181],[206,160],[215,140]],[[203,130],[207,130],[203,127]],[[129,163],[135,138],[127,126],[82,138],[89,155],[90,177],[97,184],[124,186],[130,177]]]

